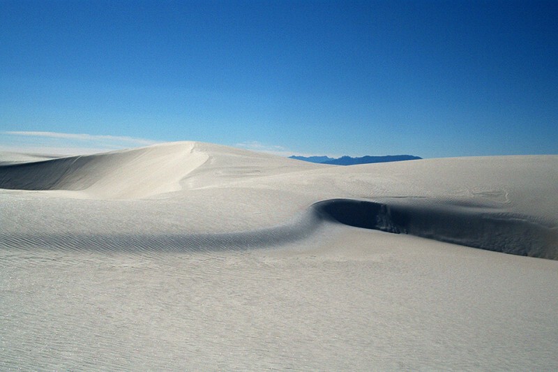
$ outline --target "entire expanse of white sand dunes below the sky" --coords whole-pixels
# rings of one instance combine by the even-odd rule
[[[0,154],[0,370],[556,370],[557,195],[558,156]]]

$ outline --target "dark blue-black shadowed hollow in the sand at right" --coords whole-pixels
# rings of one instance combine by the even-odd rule
[[[356,228],[409,234],[488,251],[558,259],[555,226],[527,216],[471,211],[456,206],[388,205],[334,199],[314,204],[322,218]]]

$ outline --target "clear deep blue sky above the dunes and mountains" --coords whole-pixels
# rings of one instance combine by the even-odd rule
[[[557,20],[558,1],[0,0],[0,148],[558,154]]]

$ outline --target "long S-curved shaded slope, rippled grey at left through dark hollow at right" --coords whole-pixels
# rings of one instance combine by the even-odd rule
[[[0,233],[8,248],[121,252],[239,251],[280,246],[310,237],[320,225],[337,222],[356,228],[409,234],[514,255],[558,259],[557,228],[526,216],[470,211],[435,205],[385,204],[350,199],[324,200],[294,221],[273,228],[221,234],[17,235]]]

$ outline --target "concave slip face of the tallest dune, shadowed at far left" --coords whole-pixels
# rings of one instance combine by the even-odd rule
[[[3,188],[86,191],[84,197],[144,198],[180,190],[179,181],[207,160],[193,143],[70,156],[4,166]]]

